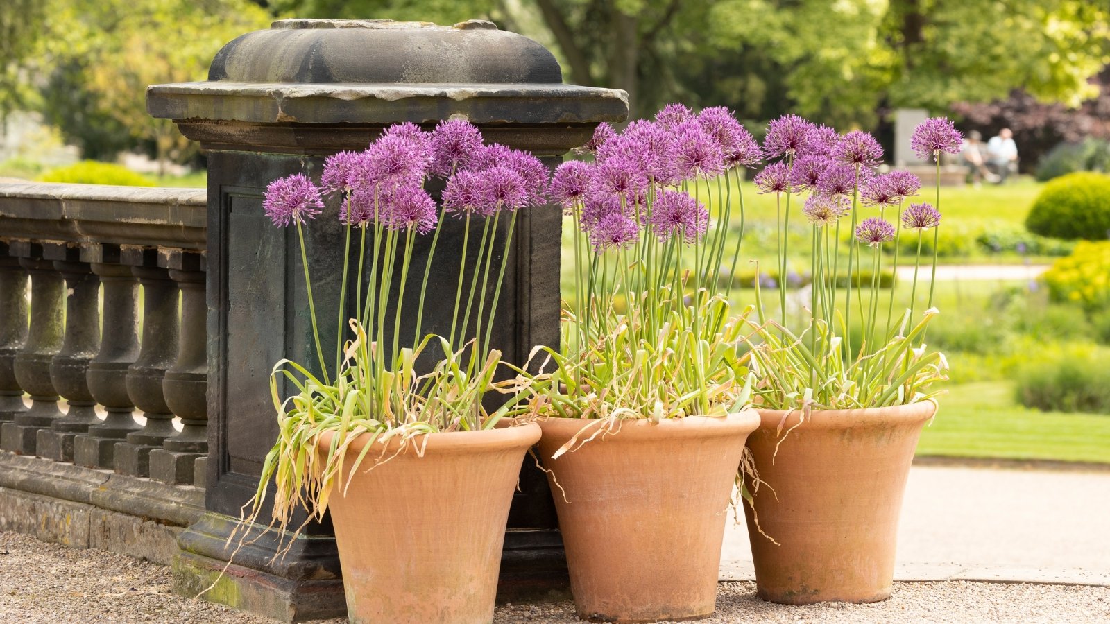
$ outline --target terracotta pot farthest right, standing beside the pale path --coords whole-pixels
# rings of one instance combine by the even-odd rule
[[[759,411],[763,424],[747,443],[765,483],[755,510],[780,544],[759,534],[745,504],[759,597],[809,604],[890,596],[906,477],[935,411],[931,401],[813,411],[793,430],[800,412],[784,423],[786,412]]]

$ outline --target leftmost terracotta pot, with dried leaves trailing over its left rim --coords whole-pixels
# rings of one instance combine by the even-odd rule
[[[493,620],[508,505],[537,440],[535,424],[432,433],[423,457],[410,446],[367,472],[375,443],[346,495],[329,502],[351,622]],[[344,475],[367,441],[351,444]],[[321,436],[320,447],[330,442]],[[385,456],[397,445],[385,443]]]

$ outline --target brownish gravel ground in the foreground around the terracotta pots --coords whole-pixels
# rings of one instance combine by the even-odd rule
[[[170,570],[125,555],[46,544],[0,533],[0,622],[269,624],[203,601],[173,595]],[[329,623],[339,623],[331,620]],[[577,622],[569,602],[505,605],[497,624]],[[755,596],[753,583],[723,583],[706,623],[778,622],[1110,622],[1110,587],[999,583],[899,583],[870,605],[783,606]]]

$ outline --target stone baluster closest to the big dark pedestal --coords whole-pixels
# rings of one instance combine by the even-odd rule
[[[181,289],[181,336],[178,360],[165,372],[165,404],[183,429],[150,453],[150,476],[171,485],[204,486],[208,457],[208,301],[204,298],[203,256],[170,252],[170,278]]]

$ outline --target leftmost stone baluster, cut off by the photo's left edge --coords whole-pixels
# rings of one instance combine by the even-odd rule
[[[16,354],[27,340],[27,271],[0,242],[0,423],[27,411],[16,381]]]

